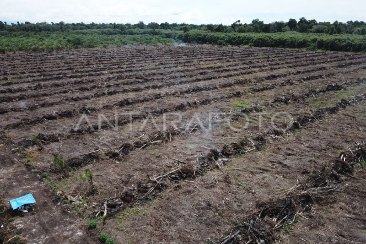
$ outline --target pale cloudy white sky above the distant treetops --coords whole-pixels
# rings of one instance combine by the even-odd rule
[[[357,6],[357,7],[355,7]],[[66,23],[137,23],[186,22],[231,24],[236,20],[249,23],[259,18],[265,23],[289,18],[317,21],[363,20],[365,0],[307,1],[162,1],[162,0],[1,0],[0,20]]]

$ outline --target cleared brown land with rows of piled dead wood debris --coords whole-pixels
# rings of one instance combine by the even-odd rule
[[[0,66],[0,190],[41,199],[30,242],[98,243],[90,219],[116,243],[366,242],[364,54],[133,46]]]

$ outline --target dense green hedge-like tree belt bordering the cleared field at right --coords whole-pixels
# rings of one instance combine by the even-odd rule
[[[366,52],[366,36],[317,33],[214,33],[192,30],[174,37],[186,43]]]

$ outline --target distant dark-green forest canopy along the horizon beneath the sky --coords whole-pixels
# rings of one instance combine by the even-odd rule
[[[259,19],[252,20],[251,23],[241,23],[240,20],[231,25],[214,25],[202,24],[194,25],[187,23],[156,23],[151,22],[147,25],[142,21],[131,24],[116,24],[116,23],[7,23],[0,21],[0,31],[2,35],[11,34],[14,32],[67,32],[73,30],[93,30],[93,29],[116,29],[120,30],[121,34],[125,34],[126,30],[131,29],[163,29],[176,31],[202,30],[221,33],[279,33],[287,31],[296,31],[299,33],[326,33],[326,34],[359,34],[366,35],[366,23],[363,21],[347,21],[346,23],[335,21],[317,22],[315,19],[307,20],[306,18],[289,19],[288,22],[276,21],[272,23],[264,23]]]

